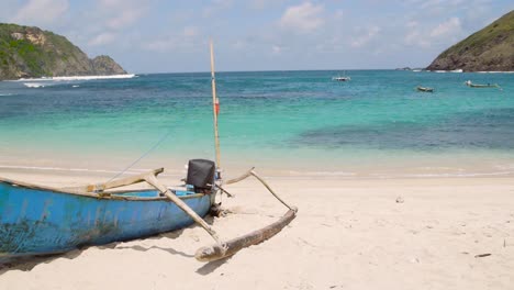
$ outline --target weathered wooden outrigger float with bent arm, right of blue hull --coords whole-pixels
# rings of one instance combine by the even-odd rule
[[[227,241],[225,243],[217,243],[216,245],[211,245],[208,247],[201,247],[197,250],[194,257],[200,260],[200,261],[212,261],[212,260],[217,260],[222,259],[228,256],[234,255],[237,253],[239,249],[243,249],[245,247],[249,247],[252,245],[259,244],[273,235],[276,235],[278,232],[280,232],[286,225],[288,225],[295,216],[298,209],[295,207],[291,207],[288,203],[286,203],[270,187],[269,185],[260,178],[255,171],[254,168],[248,170],[245,175],[234,178],[231,180],[227,180],[225,183],[231,185],[238,182],[241,180],[246,179],[249,176],[254,176],[259,180],[268,190],[273,194],[282,204],[284,204],[287,208],[289,208],[289,211],[286,212],[286,214],[278,220],[277,222],[265,226],[260,230],[254,231],[249,234],[233,238],[231,241]]]

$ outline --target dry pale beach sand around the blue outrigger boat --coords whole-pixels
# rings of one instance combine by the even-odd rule
[[[93,181],[0,174],[53,186]],[[190,226],[2,265],[0,289],[514,289],[513,178],[268,181],[298,217],[231,258],[197,261],[195,249],[212,239]],[[212,221],[222,237],[286,212],[256,181],[228,189],[236,197],[224,197],[223,207],[232,213]]]

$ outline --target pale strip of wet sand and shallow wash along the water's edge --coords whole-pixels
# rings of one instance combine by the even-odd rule
[[[11,172],[31,175],[63,175],[63,176],[109,176],[112,177],[134,160],[120,154],[94,156],[82,154],[71,157],[54,153],[52,155],[23,155],[18,158],[0,154],[0,177],[8,177]],[[130,155],[133,157],[133,155]],[[510,155],[489,156],[471,155],[420,155],[406,157],[380,157],[348,160],[331,159],[327,156],[308,157],[303,159],[284,158],[264,155],[265,158],[246,157],[237,154],[225,154],[222,157],[222,169],[230,177],[246,172],[255,167],[260,174],[271,178],[289,179],[423,179],[423,178],[488,178],[514,177],[514,157]],[[206,158],[198,156],[197,158]],[[161,176],[182,178],[189,159],[175,158],[158,154],[147,156],[128,168],[126,175],[136,175],[156,168],[165,168]],[[280,163],[276,161],[280,160]]]

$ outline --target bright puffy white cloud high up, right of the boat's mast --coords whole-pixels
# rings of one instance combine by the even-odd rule
[[[289,7],[280,19],[280,26],[293,32],[310,33],[323,25],[323,12],[322,4],[314,5],[310,2]]]

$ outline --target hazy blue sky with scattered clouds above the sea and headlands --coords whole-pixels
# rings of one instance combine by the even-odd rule
[[[425,67],[512,0],[2,0],[0,22],[62,34],[131,72]]]

